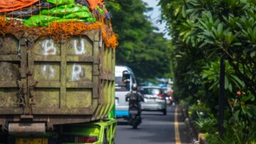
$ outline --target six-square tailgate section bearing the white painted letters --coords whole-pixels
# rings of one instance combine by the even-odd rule
[[[38,97],[42,102],[33,98],[35,103],[33,114],[92,113],[92,41],[87,36],[80,36],[71,38],[60,45],[48,39],[36,42],[43,45],[41,46],[42,52],[37,50],[36,54],[43,55],[46,61],[34,62],[33,66],[33,79],[38,82],[34,88],[33,97]],[[50,60],[54,58],[54,55],[58,57],[58,60]],[[33,65],[32,62],[31,64]],[[48,87],[48,89],[38,90],[39,87]],[[53,100],[52,104],[49,104],[51,100]],[[46,109],[43,109],[43,106]]]

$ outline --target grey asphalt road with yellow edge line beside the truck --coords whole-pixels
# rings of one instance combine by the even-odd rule
[[[176,113],[176,118],[175,118]],[[178,106],[170,106],[163,116],[158,111],[143,111],[142,124],[132,129],[119,119],[116,144],[188,144],[189,139]],[[175,123],[176,122],[176,123]]]

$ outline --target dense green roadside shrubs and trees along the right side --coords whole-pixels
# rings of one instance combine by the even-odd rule
[[[174,95],[208,143],[256,141],[256,2],[160,0],[174,48]],[[218,137],[220,58],[225,57],[225,133]]]

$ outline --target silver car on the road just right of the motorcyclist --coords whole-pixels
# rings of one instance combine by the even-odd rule
[[[166,97],[161,87],[140,87],[144,96],[142,111],[162,111],[166,115]]]

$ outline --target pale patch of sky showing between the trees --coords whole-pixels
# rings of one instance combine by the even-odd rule
[[[159,28],[159,32],[166,33],[166,23],[160,23],[159,20],[161,18],[160,6],[157,6],[159,0],[142,0],[148,4],[149,7],[153,8],[153,11],[149,11],[146,13],[147,16],[150,17],[153,26]],[[170,39],[169,35],[164,35],[165,38]]]

